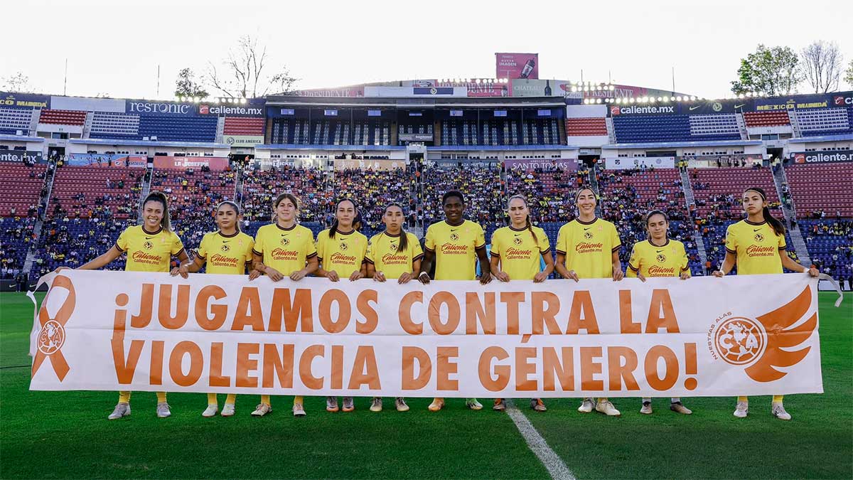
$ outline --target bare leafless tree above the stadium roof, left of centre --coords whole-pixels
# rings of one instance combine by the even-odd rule
[[[221,68],[212,61],[207,63],[205,79],[227,97],[264,97],[270,91],[274,94],[292,91],[298,79],[284,66],[270,75],[267,61],[266,45],[246,35],[237,41],[235,50],[229,50],[220,62]]]

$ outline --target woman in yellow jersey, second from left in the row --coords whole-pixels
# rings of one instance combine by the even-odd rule
[[[252,265],[252,248],[255,241],[240,231],[240,208],[235,202],[221,202],[216,209],[218,231],[207,233],[202,239],[194,260],[185,260],[171,269],[172,276],[188,277],[189,272],[198,272],[205,265],[207,273],[245,275],[246,266]],[[258,278],[260,272],[253,270],[249,279]],[[228,394],[222,409],[223,417],[234,415],[236,395]],[[207,394],[207,408],[202,417],[213,417],[219,411],[216,394]]]

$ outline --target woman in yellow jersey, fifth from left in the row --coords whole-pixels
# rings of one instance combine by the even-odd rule
[[[397,203],[390,203],[382,214],[385,231],[377,233],[368,242],[368,254],[364,257],[368,278],[376,282],[385,282],[388,278],[397,279],[397,284],[407,284],[421,271],[423,250],[418,237],[403,230],[406,216]],[[397,412],[407,412],[409,406],[402,396],[394,399]],[[382,397],[374,396],[370,405],[371,412],[382,411]]]

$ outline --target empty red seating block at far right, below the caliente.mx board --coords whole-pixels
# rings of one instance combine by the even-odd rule
[[[815,211],[853,217],[853,163],[791,165],[785,173],[799,219],[814,218]]]

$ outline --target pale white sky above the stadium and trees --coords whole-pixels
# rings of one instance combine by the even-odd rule
[[[853,58],[850,1],[33,0],[3,12],[0,79],[20,71],[32,91],[73,96],[173,99],[178,70],[219,64],[246,34],[299,89],[490,78],[496,52],[536,52],[541,79],[583,71],[584,80],[670,90],[674,68],[676,91],[715,98],[760,43],[799,51],[822,39],[838,44],[845,66]]]

